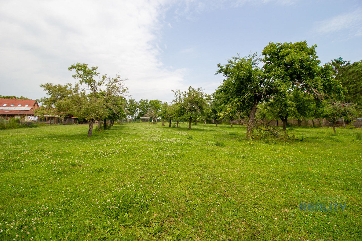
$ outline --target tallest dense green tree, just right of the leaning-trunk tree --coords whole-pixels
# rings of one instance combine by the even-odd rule
[[[262,51],[265,73],[278,90],[268,105],[271,113],[283,120],[284,130],[288,117],[301,120],[316,114],[314,99],[331,94],[340,98],[344,92],[329,65],[320,66],[315,48],[306,41],[271,42]]]

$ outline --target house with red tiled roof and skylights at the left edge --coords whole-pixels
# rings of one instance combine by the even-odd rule
[[[34,119],[34,110],[39,108],[36,100],[0,99],[0,117]]]

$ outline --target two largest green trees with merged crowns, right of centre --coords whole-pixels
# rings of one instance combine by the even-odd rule
[[[215,95],[228,105],[224,113],[242,111],[249,115],[249,124],[252,125],[258,103],[273,100],[269,106],[273,109],[271,113],[286,123],[292,115],[299,118],[311,115],[308,102],[312,101],[312,96],[319,100],[331,93],[343,96],[344,89],[333,78],[331,67],[328,64],[320,66],[315,48],[315,45],[308,47],[306,41],[270,42],[262,50],[262,59],[256,54],[244,58],[238,55],[227,64],[219,64],[216,74],[222,73],[226,78]],[[258,66],[260,61],[264,62],[263,68]],[[251,126],[248,135],[250,132]]]

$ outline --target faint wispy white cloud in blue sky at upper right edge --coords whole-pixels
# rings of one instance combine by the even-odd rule
[[[320,34],[333,34],[346,31],[344,37],[362,35],[362,8],[353,12],[343,13],[325,21],[316,22],[315,32]]]

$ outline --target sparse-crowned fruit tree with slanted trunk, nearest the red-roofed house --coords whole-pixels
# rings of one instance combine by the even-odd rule
[[[118,75],[111,78],[100,76],[98,67],[88,68],[87,64],[72,64],[69,71],[75,71],[74,79],[79,80],[74,86],[71,84],[54,85],[47,83],[40,85],[46,90],[48,97],[41,98],[43,106],[35,113],[38,115],[71,115],[89,121],[92,127],[94,120],[115,120],[125,117],[125,93],[128,89],[123,79]],[[97,79],[97,80],[96,80]],[[88,136],[92,135],[89,128]]]

